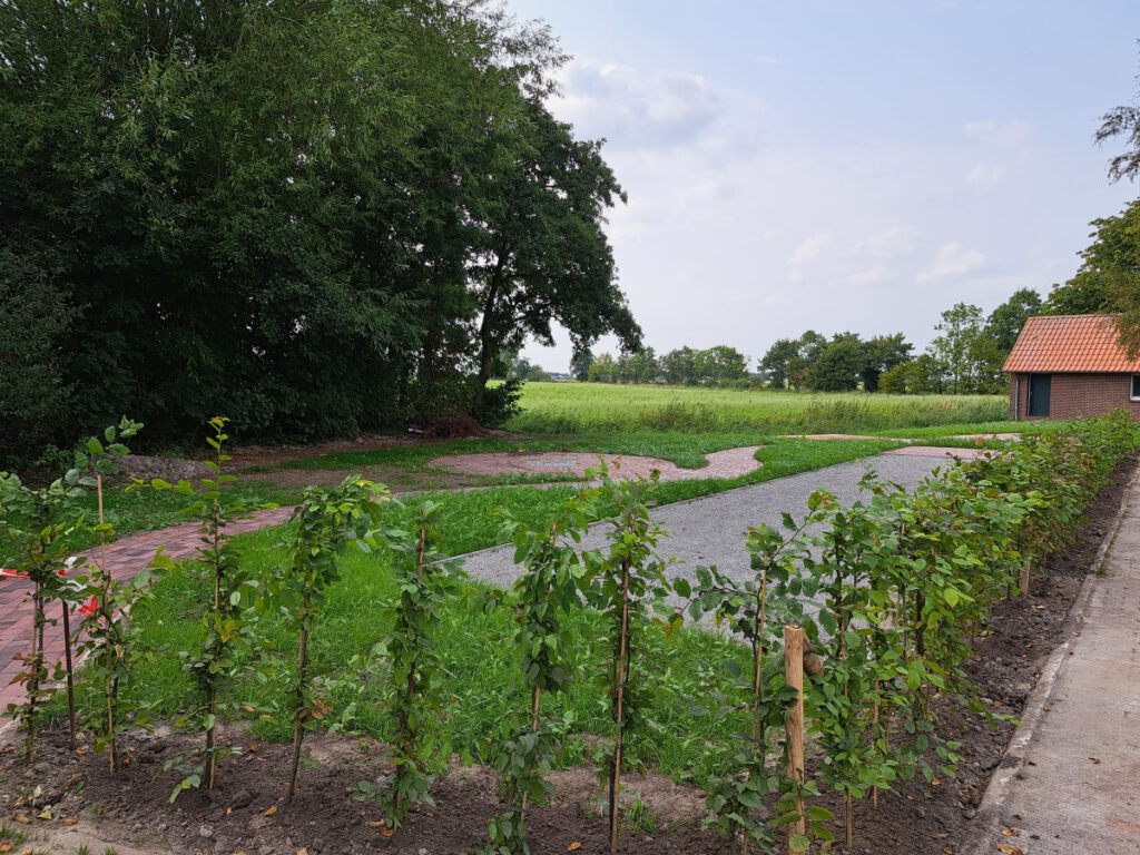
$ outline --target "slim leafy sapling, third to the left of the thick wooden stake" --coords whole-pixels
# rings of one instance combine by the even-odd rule
[[[514,645],[520,651],[523,681],[529,689],[526,725],[503,747],[498,771],[507,809],[488,823],[491,852],[526,853],[527,803],[548,796],[545,773],[557,730],[542,720],[544,693],[561,692],[571,678],[562,618],[579,603],[579,586],[596,552],[580,553],[577,544],[589,526],[596,490],[584,490],[563,505],[545,530],[507,515],[504,534],[514,544],[514,562],[522,573],[512,594],[515,602]]]

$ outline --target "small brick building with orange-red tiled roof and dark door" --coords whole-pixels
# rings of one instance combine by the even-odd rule
[[[1086,418],[1122,407],[1140,418],[1140,357],[1129,358],[1110,316],[1027,319],[1003,370],[1013,418]]]

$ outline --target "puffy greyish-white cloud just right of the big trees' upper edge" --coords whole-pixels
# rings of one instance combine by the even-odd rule
[[[610,148],[683,146],[725,112],[722,93],[685,72],[578,59],[563,70],[560,82],[555,112],[581,136],[605,137]]]

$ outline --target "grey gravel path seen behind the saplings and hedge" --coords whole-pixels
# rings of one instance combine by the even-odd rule
[[[858,498],[858,482],[868,469],[873,469],[883,480],[913,487],[936,466],[947,464],[947,451],[955,449],[928,449],[922,455],[885,454],[665,505],[653,511],[653,519],[667,531],[660,552],[677,560],[674,575],[692,578],[698,564],[716,564],[724,572],[749,577],[744,551],[744,532],[749,526],[767,522],[779,527],[784,511],[798,519],[807,507],[807,497],[821,487],[836,494],[844,504],[850,504]],[[594,548],[604,543],[605,526],[591,527],[584,546]],[[513,552],[512,546],[473,552],[463,556],[464,569],[477,579],[510,585],[518,575]]]

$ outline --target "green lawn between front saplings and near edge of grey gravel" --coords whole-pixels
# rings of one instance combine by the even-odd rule
[[[242,537],[244,569],[263,572],[286,561],[284,531]],[[453,542],[450,551],[456,548]],[[373,651],[390,629],[390,620],[378,612],[377,603],[393,594],[391,576],[380,555],[350,551],[342,557],[342,568],[343,579],[329,592],[310,648],[316,673],[328,681],[333,702],[333,714],[324,724],[384,738],[388,666]],[[450,739],[455,752],[488,762],[499,743],[500,728],[524,719],[528,698],[510,641],[514,626],[510,603],[490,605],[494,601],[488,588],[474,583],[462,587],[462,598],[445,608],[438,635],[446,671],[445,710],[429,722],[432,734]],[[139,662],[137,683],[160,718],[172,718],[193,697],[193,682],[177,652],[199,644],[197,618],[207,598],[205,584],[180,567],[157,584],[153,603],[132,614],[145,641],[160,651]],[[605,733],[609,726],[606,692],[595,679],[609,648],[596,612],[578,611],[567,629],[580,678],[563,697],[545,700],[552,716],[572,717],[572,735],[559,757],[560,764],[571,765],[588,759],[586,735]],[[295,666],[295,640],[277,618],[262,619],[255,633],[255,646],[242,658],[250,670],[226,698],[227,717],[249,722],[261,738],[284,741],[291,736],[287,718],[275,705],[284,697],[290,669]],[[747,670],[747,652],[707,632],[686,629],[666,640],[654,628],[640,643],[638,653],[645,677],[642,697],[650,711],[630,743],[633,757],[666,774],[706,781],[718,768],[731,740],[726,723],[702,715],[697,703],[712,691],[742,697],[738,683]],[[262,678],[256,678],[253,665]],[[99,686],[89,685],[81,676],[81,707],[98,710],[98,691]],[[255,711],[243,710],[242,705]],[[52,709],[64,712],[59,699]],[[736,726],[746,725],[741,720]]]

